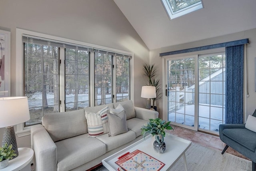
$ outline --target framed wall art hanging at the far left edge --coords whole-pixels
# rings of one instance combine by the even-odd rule
[[[0,97],[11,95],[11,32],[0,30]]]

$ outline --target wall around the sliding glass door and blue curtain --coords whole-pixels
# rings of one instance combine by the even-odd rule
[[[247,109],[247,115],[254,112],[256,109],[256,91],[254,89],[255,85],[255,66],[254,66],[254,60],[256,58],[256,28],[251,30],[246,30],[243,32],[238,32],[234,34],[228,34],[224,36],[219,36],[215,38],[209,38],[205,40],[200,40],[196,42],[190,42],[186,44],[180,44],[176,46],[169,46],[165,48],[159,48],[155,50],[150,50],[150,64],[155,64],[158,66],[158,78],[160,79],[161,83],[162,81],[162,58],[159,56],[160,53],[163,52],[171,52],[175,50],[183,50],[188,48],[196,48],[200,46],[206,46],[206,45],[212,45],[212,44],[218,44],[218,43],[224,43],[224,42],[230,42],[234,40],[241,40],[249,38],[249,45],[248,45],[248,92],[249,97],[246,98],[247,105],[245,108]],[[245,79],[245,77],[244,77]],[[164,92],[163,92],[164,93]],[[165,93],[164,93],[165,94]],[[160,107],[160,111],[163,111],[162,109],[162,100],[158,100],[157,106]],[[162,117],[162,112],[160,113],[160,116]]]

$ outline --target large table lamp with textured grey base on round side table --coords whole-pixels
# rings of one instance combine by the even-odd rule
[[[12,144],[16,153],[12,159],[19,155],[13,125],[29,119],[28,97],[0,97],[0,128],[5,127],[2,145]]]

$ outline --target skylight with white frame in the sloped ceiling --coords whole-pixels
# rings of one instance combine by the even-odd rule
[[[161,0],[170,20],[203,8],[201,0]]]

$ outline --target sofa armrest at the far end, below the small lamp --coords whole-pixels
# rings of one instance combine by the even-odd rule
[[[144,119],[146,121],[149,121],[149,119],[156,119],[158,118],[158,115],[159,115],[157,111],[144,109],[141,107],[134,106],[134,109],[135,109],[136,117],[139,119]]]

